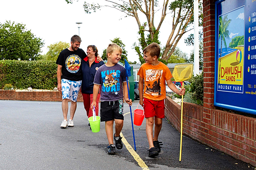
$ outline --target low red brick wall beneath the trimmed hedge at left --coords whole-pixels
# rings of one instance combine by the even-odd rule
[[[28,101],[62,101],[60,91],[15,91],[0,90],[0,100],[28,100]],[[82,94],[79,92],[78,102],[83,102]]]

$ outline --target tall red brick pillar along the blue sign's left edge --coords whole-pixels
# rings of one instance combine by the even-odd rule
[[[203,0],[203,122],[214,108],[215,0]]]

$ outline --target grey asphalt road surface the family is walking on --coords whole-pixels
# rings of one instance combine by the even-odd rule
[[[137,104],[135,100],[132,111]],[[114,156],[107,154],[105,123],[100,123],[100,132],[91,132],[82,102],[77,105],[74,127],[66,129],[60,128],[61,102],[0,100],[0,108],[0,170],[254,170],[185,136],[180,162],[180,134],[166,119],[159,136],[163,142],[159,156],[148,157],[145,120],[141,126],[134,125],[135,152],[127,104],[122,130],[127,143]]]

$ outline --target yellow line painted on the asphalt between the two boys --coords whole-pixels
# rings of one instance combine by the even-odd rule
[[[130,112],[129,112],[130,113]],[[127,115],[129,113],[125,113],[124,115]],[[124,116],[123,115],[123,116]],[[149,167],[145,164],[145,162],[140,158],[140,156],[133,150],[133,147],[127,142],[125,137],[123,136],[122,132],[120,132],[120,136],[122,137],[122,142],[125,145],[126,149],[130,152],[130,154],[133,156],[134,160],[137,161],[138,165],[143,170],[149,170]]]

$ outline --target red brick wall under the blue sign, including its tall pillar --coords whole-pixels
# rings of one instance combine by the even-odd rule
[[[203,106],[183,104],[183,134],[256,166],[256,118],[214,107],[215,0],[203,0]],[[165,99],[165,116],[180,131],[181,107]]]

